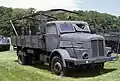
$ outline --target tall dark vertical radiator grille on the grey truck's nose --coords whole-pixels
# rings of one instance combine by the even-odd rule
[[[103,40],[92,40],[92,57],[104,56],[104,44]]]

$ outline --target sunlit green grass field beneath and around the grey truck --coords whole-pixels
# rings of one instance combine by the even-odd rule
[[[71,73],[71,77],[59,77],[45,65],[18,64],[14,51],[0,52],[0,81],[120,81],[120,60],[105,63],[101,73],[83,70]]]

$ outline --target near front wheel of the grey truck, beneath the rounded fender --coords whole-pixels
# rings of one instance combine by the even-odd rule
[[[56,75],[64,76],[67,75],[67,68],[63,68],[62,59],[58,56],[53,57],[51,61],[51,70]]]

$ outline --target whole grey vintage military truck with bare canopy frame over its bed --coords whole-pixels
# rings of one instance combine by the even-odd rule
[[[66,75],[69,68],[89,65],[100,70],[104,68],[105,62],[118,59],[117,54],[111,53],[110,47],[105,47],[104,37],[94,34],[87,22],[57,20],[45,14],[54,11],[79,15],[69,10],[52,9],[10,21],[16,34],[11,36],[11,42],[17,47],[20,64],[32,64],[37,60],[48,63],[53,73]],[[36,15],[39,15],[39,19],[34,18]],[[42,16],[47,17],[46,20]],[[29,26],[28,33],[24,32],[24,27],[22,34],[18,35],[13,22],[21,19],[36,20],[40,25],[37,30]]]

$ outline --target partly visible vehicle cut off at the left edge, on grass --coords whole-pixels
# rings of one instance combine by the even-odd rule
[[[9,51],[10,49],[10,42],[7,37],[0,36],[0,51]]]

